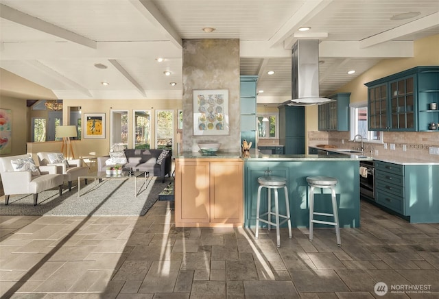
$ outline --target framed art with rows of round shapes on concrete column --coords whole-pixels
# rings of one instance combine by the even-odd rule
[[[228,135],[228,90],[193,91],[193,134]]]

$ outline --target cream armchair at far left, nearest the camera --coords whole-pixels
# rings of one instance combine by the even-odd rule
[[[34,206],[38,193],[59,187],[62,194],[62,174],[56,173],[56,166],[36,167],[30,155],[8,156],[0,158],[0,176],[5,191],[5,205],[10,195],[34,194]]]

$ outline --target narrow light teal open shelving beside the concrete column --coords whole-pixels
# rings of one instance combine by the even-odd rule
[[[252,147],[257,146],[257,80],[258,76],[241,75],[241,143],[246,139]]]

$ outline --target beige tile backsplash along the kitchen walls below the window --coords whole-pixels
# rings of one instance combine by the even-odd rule
[[[380,143],[364,143],[364,151],[372,151],[377,156],[404,156],[410,158],[421,158],[425,160],[438,160],[438,155],[429,154],[429,147],[439,147],[438,132],[383,132],[384,143],[387,149]],[[344,141],[344,143],[342,143]],[[335,145],[338,148],[358,147],[358,143],[349,141],[349,132],[308,132],[308,145],[320,144]],[[395,145],[395,150],[390,150],[390,144]],[[406,145],[406,151],[403,151]],[[377,152],[378,151],[378,152]]]

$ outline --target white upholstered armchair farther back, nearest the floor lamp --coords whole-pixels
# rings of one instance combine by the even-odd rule
[[[73,180],[78,180],[79,176],[88,174],[88,167],[82,166],[81,159],[66,160],[64,156],[58,152],[39,152],[36,156],[38,156],[40,166],[56,166],[57,173],[64,175],[64,182],[69,182],[69,191],[71,191],[71,182]],[[87,181],[85,183],[87,183]]]

